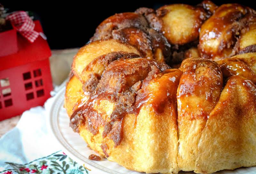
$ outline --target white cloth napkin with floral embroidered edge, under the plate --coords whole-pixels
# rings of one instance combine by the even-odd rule
[[[53,99],[45,105],[49,107]],[[0,174],[92,174],[54,143],[47,130],[46,114],[41,106],[25,111],[17,126],[1,137]]]

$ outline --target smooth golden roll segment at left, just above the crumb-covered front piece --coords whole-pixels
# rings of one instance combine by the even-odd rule
[[[122,44],[117,40],[99,40],[82,47],[72,63],[73,73],[82,82],[85,82],[90,74],[101,76],[103,70],[111,60],[106,60],[106,54],[112,52],[134,53],[140,55],[139,51],[128,44]],[[103,57],[102,57],[103,56]],[[109,57],[109,56],[108,56]],[[111,56],[113,60],[118,56]],[[97,68],[95,67],[97,66]]]

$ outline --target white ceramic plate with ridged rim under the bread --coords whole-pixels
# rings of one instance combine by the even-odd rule
[[[95,154],[93,150],[87,147],[84,140],[69,127],[69,118],[64,104],[65,87],[61,88],[56,94],[55,101],[50,110],[49,129],[57,142],[62,147],[62,150],[77,163],[91,170],[90,173],[111,173],[111,174],[142,174],[132,170],[127,170],[115,162],[110,162],[107,159],[102,161],[92,161],[88,156]],[[194,172],[179,172],[186,174],[194,174]],[[233,171],[220,171],[215,174],[255,174],[256,167],[239,168]]]

